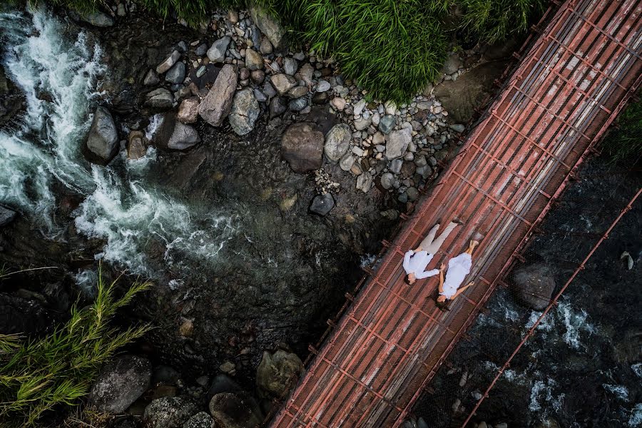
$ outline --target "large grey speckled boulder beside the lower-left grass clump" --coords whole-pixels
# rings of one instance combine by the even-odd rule
[[[91,385],[89,404],[99,412],[123,413],[149,388],[151,362],[136,355],[123,355],[103,366]]]

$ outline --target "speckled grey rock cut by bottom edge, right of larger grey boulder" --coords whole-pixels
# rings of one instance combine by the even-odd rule
[[[146,428],[180,428],[198,412],[198,406],[183,397],[163,397],[153,400],[143,413]]]

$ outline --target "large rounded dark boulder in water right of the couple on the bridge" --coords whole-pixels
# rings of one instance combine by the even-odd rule
[[[517,300],[534,310],[544,310],[555,290],[555,277],[549,265],[542,262],[518,267],[513,271]]]

